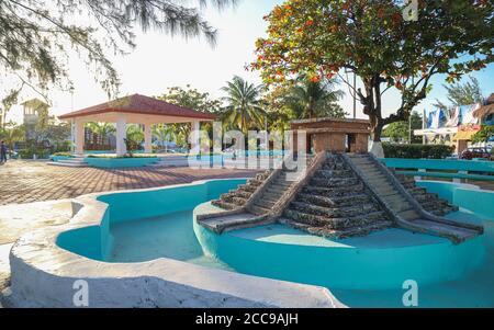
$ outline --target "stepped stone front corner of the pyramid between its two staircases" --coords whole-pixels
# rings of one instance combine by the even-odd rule
[[[393,225],[338,155],[327,156],[280,221],[328,238],[366,236]]]

